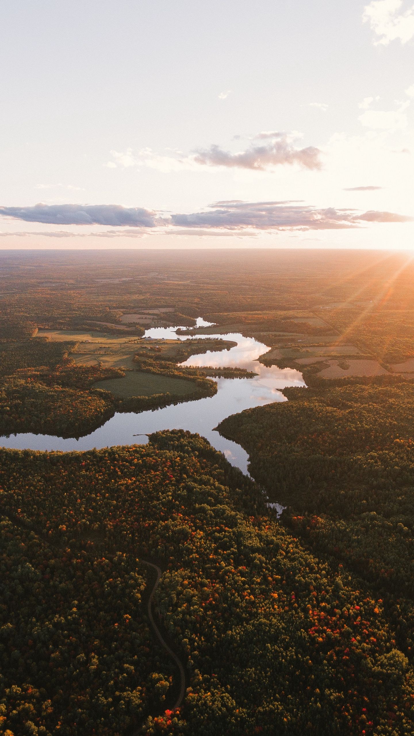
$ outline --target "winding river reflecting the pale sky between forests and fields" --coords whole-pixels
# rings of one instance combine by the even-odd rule
[[[210,327],[211,323],[197,319],[197,327]],[[176,334],[178,327],[152,328],[145,333],[154,339],[188,339],[187,335]],[[183,328],[185,329],[185,328]],[[188,401],[177,406],[166,406],[141,414],[114,414],[91,434],[80,439],[22,433],[0,437],[3,447],[18,450],[91,450],[94,447],[113,445],[133,445],[147,442],[144,434],[164,429],[185,429],[198,432],[208,439],[217,450],[225,454],[228,461],[248,472],[248,454],[236,442],[225,439],[214,429],[225,417],[237,414],[253,406],[264,406],[274,401],[286,401],[281,389],[286,386],[304,386],[302,374],[291,368],[265,367],[259,363],[259,355],[267,353],[270,347],[241,333],[197,335],[199,338],[222,338],[236,342],[231,350],[221,350],[201,355],[192,355],[184,366],[234,367],[245,368],[258,375],[254,378],[217,378],[217,394],[205,399]],[[137,436],[138,435],[138,436]],[[139,436],[141,435],[141,436]]]

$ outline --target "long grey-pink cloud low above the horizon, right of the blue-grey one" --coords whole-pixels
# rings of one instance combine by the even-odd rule
[[[411,222],[413,218],[374,210],[317,209],[301,202],[215,202],[205,212],[172,215],[178,227],[214,227],[227,230],[343,230],[361,222]]]

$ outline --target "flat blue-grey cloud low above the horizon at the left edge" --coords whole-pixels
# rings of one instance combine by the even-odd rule
[[[0,215],[56,225],[110,225],[122,227],[155,227],[154,212],[141,207],[122,205],[35,205],[34,207],[0,207]]]

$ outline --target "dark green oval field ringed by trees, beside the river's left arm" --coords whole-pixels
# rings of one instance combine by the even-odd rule
[[[196,387],[192,381],[183,378],[169,378],[164,375],[144,373],[142,371],[127,371],[124,378],[110,378],[108,381],[98,381],[94,384],[97,389],[110,391],[116,398],[127,399],[130,396],[152,396],[153,394],[178,394],[189,396],[194,394]]]

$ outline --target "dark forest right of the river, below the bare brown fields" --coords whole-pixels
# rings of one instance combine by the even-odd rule
[[[376,378],[285,389],[289,400],[220,425],[287,504],[284,523],[385,596],[413,646],[414,383]],[[336,385],[335,385],[336,384]]]

